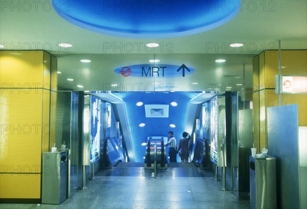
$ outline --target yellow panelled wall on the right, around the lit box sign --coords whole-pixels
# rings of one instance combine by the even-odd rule
[[[307,73],[307,50],[281,50],[281,73],[282,75],[306,75]],[[279,106],[279,95],[275,94],[275,75],[279,74],[279,51],[269,50],[260,53],[259,66],[253,66],[254,82],[259,74],[259,100],[256,92],[253,95],[254,125],[259,121],[259,132],[254,135],[255,144],[260,144],[260,149],[267,147],[267,135],[272,131],[274,124],[267,124],[267,108]],[[255,104],[259,101],[259,106]],[[307,95],[306,94],[282,94],[281,105],[298,104],[299,126],[307,126]],[[259,110],[257,110],[259,108]],[[258,114],[258,115],[257,115]],[[259,137],[256,134],[259,133]],[[258,140],[258,141],[257,141]]]

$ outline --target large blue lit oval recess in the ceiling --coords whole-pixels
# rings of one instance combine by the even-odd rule
[[[239,0],[53,0],[52,3],[54,10],[74,25],[131,38],[201,33],[229,22],[240,10]]]

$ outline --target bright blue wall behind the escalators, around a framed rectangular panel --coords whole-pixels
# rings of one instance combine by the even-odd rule
[[[121,97],[126,103],[129,124],[126,127],[122,127],[122,131],[131,135],[136,161],[144,162],[143,157],[145,156],[146,148],[141,144],[147,142],[148,136],[168,136],[168,132],[172,131],[177,143],[179,143],[179,139],[182,138],[182,132],[185,131],[188,102],[198,93],[131,92],[114,94]],[[142,106],[136,105],[139,101],[143,102]],[[177,102],[178,106],[171,106],[170,102],[172,101]],[[144,105],[149,104],[169,105],[169,117],[146,118]],[[145,123],[145,126],[139,127],[140,123]],[[176,128],[171,128],[169,124],[175,124]]]

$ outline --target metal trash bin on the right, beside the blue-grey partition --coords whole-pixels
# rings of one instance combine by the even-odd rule
[[[276,158],[250,156],[250,208],[276,208]]]

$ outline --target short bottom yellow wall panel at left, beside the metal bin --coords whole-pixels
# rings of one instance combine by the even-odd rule
[[[39,199],[40,174],[0,174],[0,198]]]

